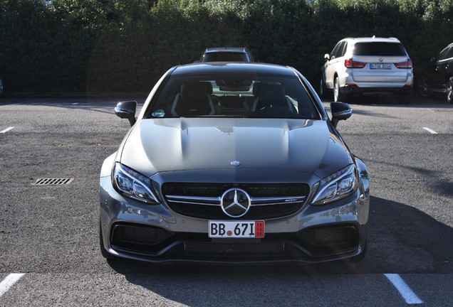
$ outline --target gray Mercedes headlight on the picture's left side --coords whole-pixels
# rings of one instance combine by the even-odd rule
[[[115,163],[113,168],[112,183],[115,190],[128,198],[140,200],[144,203],[160,203],[154,193],[152,193],[150,178],[119,162]]]

